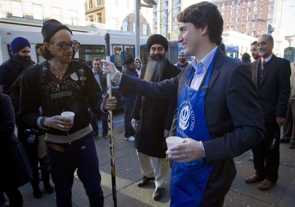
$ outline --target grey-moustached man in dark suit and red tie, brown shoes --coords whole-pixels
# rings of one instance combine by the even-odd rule
[[[246,183],[263,181],[260,190],[268,190],[276,185],[280,163],[279,144],[269,150],[273,135],[286,121],[287,104],[290,97],[290,62],[276,57],[273,37],[263,34],[257,41],[261,59],[251,64],[252,78],[258,91],[259,106],[262,110],[266,135],[264,140],[252,149],[255,174],[246,178]]]

